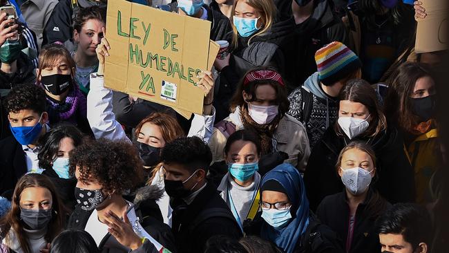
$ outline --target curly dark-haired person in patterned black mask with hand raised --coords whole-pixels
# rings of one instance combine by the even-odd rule
[[[77,178],[77,205],[68,228],[88,232],[100,252],[124,253],[152,245],[175,252],[170,227],[162,222],[155,203],[160,190],[152,187],[146,196],[137,193],[133,203],[123,197],[143,179],[142,161],[132,144],[106,139],[84,142],[71,151],[70,164],[70,174]],[[152,238],[157,243],[149,243]]]

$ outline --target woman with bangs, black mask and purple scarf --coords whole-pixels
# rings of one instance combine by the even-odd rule
[[[75,62],[64,46],[44,46],[39,55],[37,83],[46,93],[50,127],[66,122],[91,134],[87,120],[86,97],[74,82]]]

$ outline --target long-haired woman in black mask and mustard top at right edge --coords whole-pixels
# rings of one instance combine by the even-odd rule
[[[385,98],[387,120],[403,131],[404,144],[414,169],[417,202],[432,202],[429,182],[437,171],[437,122],[435,122],[435,84],[429,66],[406,62],[392,77]]]

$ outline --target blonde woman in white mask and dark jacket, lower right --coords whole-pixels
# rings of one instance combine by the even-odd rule
[[[374,151],[365,142],[351,142],[340,152],[336,170],[345,187],[324,198],[316,215],[341,236],[345,252],[380,252],[374,221],[391,205],[374,189]]]

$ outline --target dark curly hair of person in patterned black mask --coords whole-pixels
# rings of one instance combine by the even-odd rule
[[[121,194],[143,182],[139,153],[132,144],[123,140],[86,140],[70,153],[69,167],[70,175],[78,169],[78,180],[97,180],[107,192]]]

